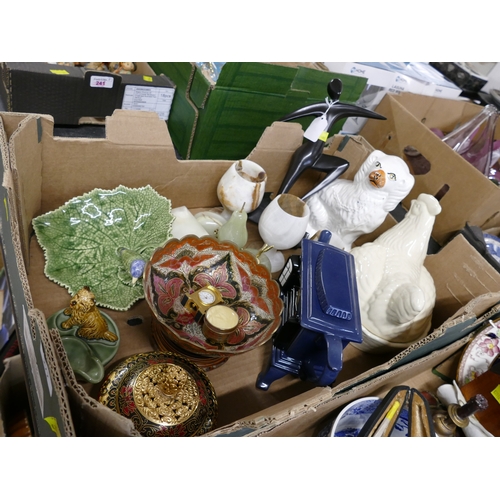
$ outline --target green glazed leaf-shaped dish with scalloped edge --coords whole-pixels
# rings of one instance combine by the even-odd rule
[[[34,218],[45,275],[71,294],[90,287],[101,307],[129,309],[144,289],[126,268],[123,249],[147,262],[171,237],[171,209],[151,186],[118,186],[94,189]]]

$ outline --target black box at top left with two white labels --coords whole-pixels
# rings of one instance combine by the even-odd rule
[[[145,63],[130,75],[43,62],[3,62],[0,72],[7,111],[48,114],[56,125],[95,123],[115,109],[155,111],[167,120],[175,93]]]

